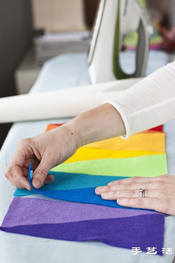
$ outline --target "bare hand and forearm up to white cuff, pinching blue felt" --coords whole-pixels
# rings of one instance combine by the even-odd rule
[[[66,161],[80,146],[125,133],[120,113],[105,103],[52,131],[21,140],[5,176],[16,187],[31,190],[27,178],[31,162],[34,170],[32,184],[38,189],[54,180],[52,175],[47,175],[49,170]]]

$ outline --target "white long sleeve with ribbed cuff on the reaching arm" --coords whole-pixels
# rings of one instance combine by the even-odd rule
[[[122,94],[106,100],[120,113],[130,135],[175,118],[175,61],[156,70]]]

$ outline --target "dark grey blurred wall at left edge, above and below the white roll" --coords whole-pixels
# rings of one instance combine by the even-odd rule
[[[30,0],[0,0],[0,97],[16,94],[14,71],[31,45]],[[0,148],[10,124],[0,124]]]

